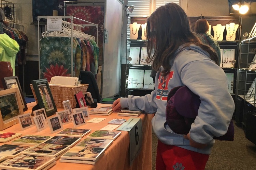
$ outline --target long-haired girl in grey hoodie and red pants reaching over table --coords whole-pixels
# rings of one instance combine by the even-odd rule
[[[156,113],[152,119],[159,139],[156,170],[204,170],[213,137],[227,133],[234,112],[234,101],[228,92],[226,75],[217,65],[217,54],[195,36],[186,13],[176,3],[160,6],[147,19],[147,40],[146,62],[153,61],[153,68],[159,70],[155,90],[143,97],[119,98],[112,109]],[[173,132],[166,121],[168,93],[177,86],[187,86],[201,100],[188,134]]]

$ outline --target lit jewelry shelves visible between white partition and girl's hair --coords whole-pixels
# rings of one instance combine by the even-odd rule
[[[131,17],[128,27],[129,44],[125,68],[125,96],[144,96],[154,89],[151,64],[146,63],[146,17]],[[140,26],[140,27],[139,27]],[[133,28],[134,27],[134,28]],[[130,30],[130,33],[129,33]]]

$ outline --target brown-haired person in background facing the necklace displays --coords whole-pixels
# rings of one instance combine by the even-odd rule
[[[202,43],[212,47],[214,51],[218,55],[218,60],[219,63],[218,65],[220,66],[221,62],[221,49],[219,48],[219,44],[217,41],[213,38],[212,35],[208,34],[209,30],[209,23],[206,19],[199,19],[195,23],[194,31],[196,33],[196,36],[202,41]]]

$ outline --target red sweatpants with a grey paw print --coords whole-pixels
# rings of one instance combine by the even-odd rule
[[[156,170],[204,170],[209,155],[166,145],[158,140]]]

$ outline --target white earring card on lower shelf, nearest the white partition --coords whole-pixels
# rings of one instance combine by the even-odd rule
[[[129,69],[127,88],[143,88],[144,70]]]

